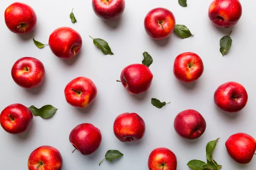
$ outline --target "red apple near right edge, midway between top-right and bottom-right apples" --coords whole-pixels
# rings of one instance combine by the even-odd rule
[[[247,104],[247,100],[247,91],[237,82],[226,82],[214,93],[215,104],[224,112],[241,111]]]

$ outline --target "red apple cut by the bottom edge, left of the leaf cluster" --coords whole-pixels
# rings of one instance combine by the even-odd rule
[[[159,147],[150,153],[148,168],[149,170],[176,170],[177,158],[171,150]]]

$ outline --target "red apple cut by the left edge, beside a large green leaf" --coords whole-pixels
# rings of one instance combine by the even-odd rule
[[[10,134],[24,133],[31,126],[32,119],[29,108],[18,103],[7,106],[0,114],[0,124]]]

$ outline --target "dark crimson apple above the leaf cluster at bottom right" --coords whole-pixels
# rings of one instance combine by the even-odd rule
[[[189,109],[177,114],[174,119],[175,131],[183,138],[199,138],[206,129],[204,117],[195,110]]]

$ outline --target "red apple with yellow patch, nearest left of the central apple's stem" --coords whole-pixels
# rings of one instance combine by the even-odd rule
[[[86,108],[97,96],[97,88],[91,79],[77,77],[64,90],[67,102],[76,108]]]

